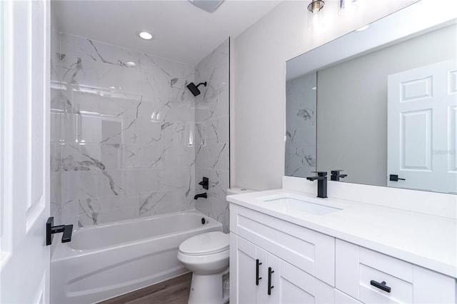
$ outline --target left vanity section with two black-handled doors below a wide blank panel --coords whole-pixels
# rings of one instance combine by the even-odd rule
[[[231,206],[231,301],[333,303],[335,238]]]

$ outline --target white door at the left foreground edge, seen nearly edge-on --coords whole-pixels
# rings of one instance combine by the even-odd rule
[[[0,1],[0,303],[49,303],[49,2]]]

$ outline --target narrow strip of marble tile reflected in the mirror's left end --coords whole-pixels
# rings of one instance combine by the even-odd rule
[[[316,73],[286,82],[286,176],[316,171]]]

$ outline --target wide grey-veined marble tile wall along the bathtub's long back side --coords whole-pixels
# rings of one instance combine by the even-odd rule
[[[82,227],[194,209],[195,98],[186,88],[194,66],[67,34],[56,39],[55,223]]]

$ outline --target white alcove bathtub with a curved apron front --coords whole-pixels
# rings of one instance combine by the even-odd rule
[[[186,211],[81,228],[69,243],[58,235],[51,303],[96,303],[187,273],[176,256],[179,244],[221,230],[208,216]]]

